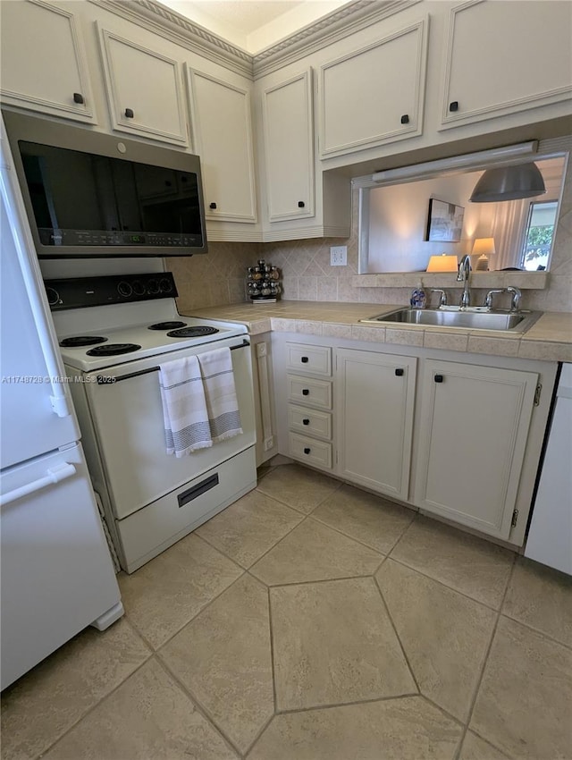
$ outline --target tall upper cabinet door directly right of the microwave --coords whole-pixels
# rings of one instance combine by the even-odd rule
[[[206,219],[256,222],[249,90],[189,69],[189,100]]]

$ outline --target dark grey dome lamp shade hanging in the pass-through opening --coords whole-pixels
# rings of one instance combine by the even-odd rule
[[[469,198],[472,203],[496,203],[502,200],[534,198],[546,192],[543,175],[537,165],[519,164],[486,169]]]

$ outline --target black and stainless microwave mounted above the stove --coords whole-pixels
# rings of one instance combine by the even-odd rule
[[[206,253],[198,156],[3,110],[39,258]]]

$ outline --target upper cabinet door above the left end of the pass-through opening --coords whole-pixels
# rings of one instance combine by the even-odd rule
[[[421,134],[426,27],[419,21],[322,66],[321,157]]]

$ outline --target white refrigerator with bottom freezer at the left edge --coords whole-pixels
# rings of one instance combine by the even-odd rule
[[[34,253],[0,140],[0,688],[123,614]]]

